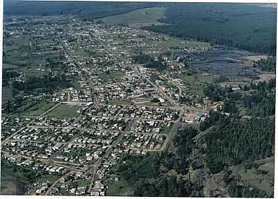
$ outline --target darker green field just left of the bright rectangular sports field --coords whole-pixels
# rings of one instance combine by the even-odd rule
[[[49,110],[51,107],[55,105],[52,101],[40,101],[33,105],[32,107],[29,107],[24,112],[21,112],[21,115],[24,116],[39,116]]]

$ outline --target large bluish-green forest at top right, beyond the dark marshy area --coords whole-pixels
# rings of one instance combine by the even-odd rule
[[[276,9],[237,3],[176,3],[145,29],[275,55]]]

